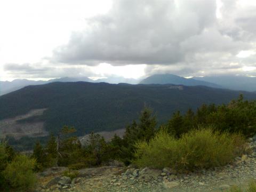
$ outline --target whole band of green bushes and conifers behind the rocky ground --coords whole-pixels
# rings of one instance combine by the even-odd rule
[[[179,172],[222,166],[244,153],[246,138],[254,134],[256,101],[244,101],[242,95],[228,105],[202,105],[195,113],[189,109],[183,115],[177,111],[161,126],[156,115],[145,108],[139,120],[126,127],[123,138],[115,135],[110,142],[91,133],[82,146],[74,127],[68,126],[52,134],[46,145],[36,142],[29,156],[14,153],[2,142],[0,189],[31,189],[36,183],[34,172],[47,167],[78,170],[114,159],[126,165],[168,166]],[[74,173],[66,175],[75,177]]]

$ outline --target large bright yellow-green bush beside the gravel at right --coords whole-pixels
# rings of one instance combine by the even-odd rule
[[[241,135],[213,132],[212,127],[192,130],[180,139],[160,130],[148,143],[135,144],[134,163],[158,169],[167,166],[181,172],[225,165],[243,151],[235,145],[237,140],[244,145]]]

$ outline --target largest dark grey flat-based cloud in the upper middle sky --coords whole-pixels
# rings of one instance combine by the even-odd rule
[[[67,45],[54,50],[52,60],[86,65],[177,63],[190,50],[184,44],[215,25],[215,12],[215,0],[116,0],[109,13],[87,20],[85,31],[73,33]]]

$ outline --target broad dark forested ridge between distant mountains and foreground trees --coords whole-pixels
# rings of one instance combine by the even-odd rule
[[[184,113],[188,108],[196,110],[202,103],[227,103],[240,93],[246,99],[256,99],[255,93],[206,86],[89,82],[26,86],[0,97],[0,131],[8,131],[6,129],[10,126],[6,124],[7,118],[15,120],[18,131],[21,131],[21,125],[30,128],[29,131],[36,129],[34,124],[29,123],[43,125],[46,131],[53,133],[63,125],[75,126],[78,135],[91,131],[111,131],[124,128],[138,117],[145,105],[157,112],[161,123],[176,110]],[[42,109],[40,113],[39,109]],[[34,110],[34,116],[27,115],[31,110]],[[23,115],[23,119],[20,115]]]

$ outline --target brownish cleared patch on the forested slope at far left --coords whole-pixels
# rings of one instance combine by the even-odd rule
[[[6,135],[10,135],[15,139],[21,137],[43,137],[48,135],[48,132],[44,129],[44,122],[37,121],[31,123],[18,123],[22,119],[29,117],[41,116],[46,109],[34,109],[29,111],[25,115],[19,115],[14,118],[8,118],[0,121],[0,137],[4,138]]]

